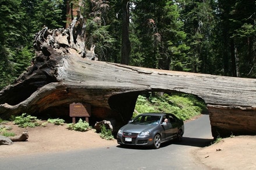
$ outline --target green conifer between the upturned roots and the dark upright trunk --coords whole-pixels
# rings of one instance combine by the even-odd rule
[[[90,1],[86,3],[85,43],[88,49],[95,45],[95,53],[101,61],[112,61],[111,51],[116,39],[111,35],[111,19],[109,1]]]

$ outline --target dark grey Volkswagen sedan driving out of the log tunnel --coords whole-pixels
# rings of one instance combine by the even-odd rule
[[[175,115],[143,113],[122,126],[116,137],[120,145],[152,146],[158,149],[163,142],[182,140],[183,133],[184,123]]]

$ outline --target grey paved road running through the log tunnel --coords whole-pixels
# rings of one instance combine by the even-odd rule
[[[211,141],[209,116],[202,115],[186,122],[182,142],[165,143],[157,150],[122,148],[117,144],[109,148],[1,158],[0,169],[207,169],[191,153]]]

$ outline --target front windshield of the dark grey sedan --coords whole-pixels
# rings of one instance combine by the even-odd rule
[[[135,125],[157,125],[160,122],[161,116],[158,115],[140,115],[130,122]]]

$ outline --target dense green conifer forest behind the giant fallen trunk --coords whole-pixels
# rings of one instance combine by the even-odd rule
[[[0,89],[30,65],[34,34],[42,27],[69,26],[77,8],[86,26],[84,43],[87,49],[95,45],[101,61],[256,77],[255,1],[0,0],[0,5]]]

